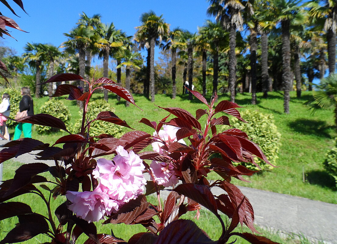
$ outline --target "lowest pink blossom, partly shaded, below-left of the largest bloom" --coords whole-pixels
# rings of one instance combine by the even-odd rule
[[[89,223],[117,212],[119,206],[118,201],[109,198],[107,188],[101,184],[98,184],[93,191],[67,191],[65,196],[72,202],[68,208]]]

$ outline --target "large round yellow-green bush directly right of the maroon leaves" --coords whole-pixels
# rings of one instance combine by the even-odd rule
[[[281,134],[277,131],[275,120],[272,114],[263,114],[258,111],[244,110],[240,111],[241,117],[248,123],[244,123],[235,117],[230,117],[229,121],[234,128],[240,129],[247,133],[250,140],[258,144],[261,150],[265,153],[269,162],[276,166],[278,159],[278,151],[280,148]],[[223,126],[223,130],[228,130],[228,127]],[[263,169],[273,169],[274,167],[265,163],[260,158],[254,158],[255,163]],[[243,165],[250,170],[259,170],[251,163],[233,163],[233,165]]]

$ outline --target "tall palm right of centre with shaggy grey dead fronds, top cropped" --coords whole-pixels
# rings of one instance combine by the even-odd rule
[[[220,22],[229,32],[229,91],[231,101],[235,102],[236,85],[236,31],[242,31],[243,18],[242,11],[244,5],[240,0],[209,0],[210,6],[207,12],[215,16],[216,21]]]

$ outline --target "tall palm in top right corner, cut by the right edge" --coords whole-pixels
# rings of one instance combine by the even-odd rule
[[[328,41],[328,66],[329,74],[336,69],[336,32],[337,32],[337,2],[335,0],[324,0],[323,5],[319,1],[311,1],[307,4],[310,7],[310,19],[324,29]]]

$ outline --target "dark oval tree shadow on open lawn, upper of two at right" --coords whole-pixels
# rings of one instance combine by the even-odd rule
[[[327,125],[324,120],[296,119],[288,124],[290,129],[306,135],[332,138],[334,126]]]

